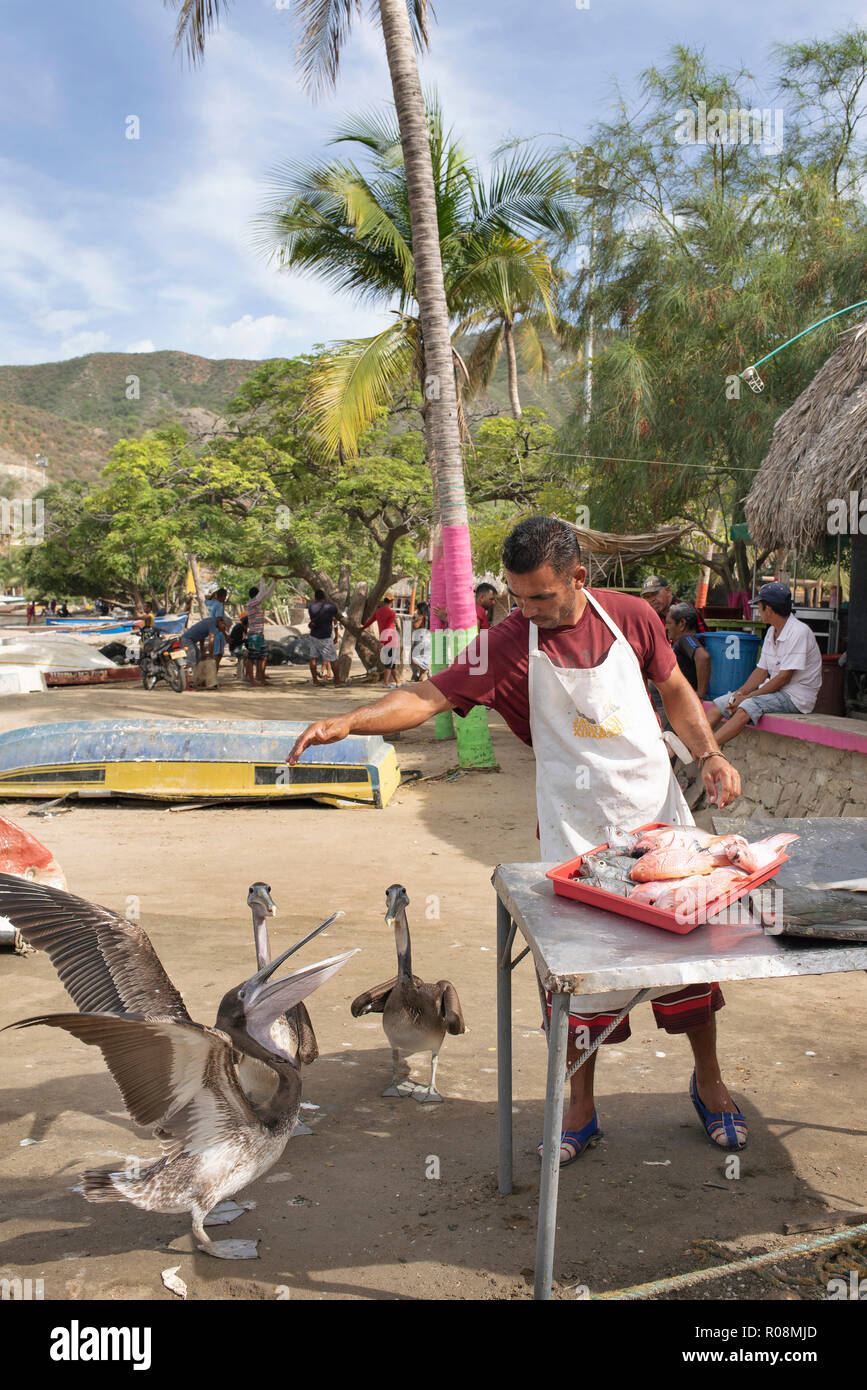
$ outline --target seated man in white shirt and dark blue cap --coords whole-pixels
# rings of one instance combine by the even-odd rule
[[[809,714],[821,687],[821,652],[806,623],[792,617],[792,592],[785,584],[763,584],[759,589],[759,619],[768,631],[759,666],[741,689],[717,695],[707,723],[717,728],[721,746],[736,738],[763,714]],[[753,694],[753,691],[756,694]]]

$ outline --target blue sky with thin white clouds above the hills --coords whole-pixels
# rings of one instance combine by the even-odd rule
[[[675,43],[745,64],[770,103],[770,47],[829,36],[825,0],[438,0],[425,85],[485,160],[509,135],[586,140]],[[281,160],[311,160],[343,111],[389,96],[381,36],[356,28],[336,92],[293,67],[286,0],[238,0],[190,70],[161,0],[4,0],[0,54],[0,363],[174,348],[292,356],[385,316],[276,274],[253,221]],[[128,139],[138,117],[139,139]]]

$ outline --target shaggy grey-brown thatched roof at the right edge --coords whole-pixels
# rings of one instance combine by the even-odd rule
[[[867,496],[867,322],[857,324],[774,427],[746,498],[761,548],[810,550],[835,499]]]

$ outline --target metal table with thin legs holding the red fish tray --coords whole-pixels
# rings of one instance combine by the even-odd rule
[[[791,824],[795,828],[795,823]],[[860,824],[863,826],[863,821]],[[743,924],[709,922],[681,937],[613,912],[588,908],[581,902],[556,897],[550,880],[545,877],[549,867],[553,866],[499,865],[492,880],[497,894],[497,1111],[502,1194],[511,1193],[511,972],[528,952],[532,952],[540,986],[552,991],[535,1298],[550,1298],[552,1289],[571,994],[634,990],[634,998],[618,1013],[620,1020],[628,1009],[646,998],[649,990],[679,990],[686,984],[700,984],[706,980],[766,980],[774,976],[867,970],[867,945],[766,935],[760,926],[749,922]],[[511,948],[518,931],[527,945],[513,959]],[[578,1065],[586,1062],[599,1041],[581,1055]]]

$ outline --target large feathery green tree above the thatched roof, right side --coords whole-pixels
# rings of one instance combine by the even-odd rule
[[[734,140],[728,125],[724,139],[679,143],[699,101],[709,113],[759,104],[743,74],[714,74],[686,49],[646,71],[641,106],[624,103],[578,154],[596,236],[572,307],[579,329],[595,322],[596,349],[592,411],[584,403],[575,411],[564,452],[593,460],[595,525],[635,531],[679,520],[681,553],[709,560],[729,589],[750,581],[746,543],[731,541],[731,527],[743,520],[775,420],[836,328],[774,359],[763,395],[738,374],[831,307],[867,295],[867,217],[843,177],[864,167],[854,95],[866,35],[779,51],[782,88],[798,82],[810,95],[811,120],[831,96],[838,115],[848,113],[832,120],[828,108],[834,139],[813,154],[798,111],[786,113],[779,149],[742,139],[739,117]],[[827,81],[832,61],[842,101]]]

